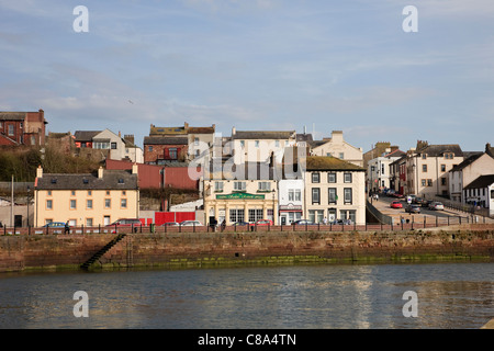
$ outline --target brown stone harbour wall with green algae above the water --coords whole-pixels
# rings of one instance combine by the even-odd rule
[[[0,272],[79,268],[115,235],[0,236]],[[179,267],[494,258],[494,230],[132,234],[96,267]]]

